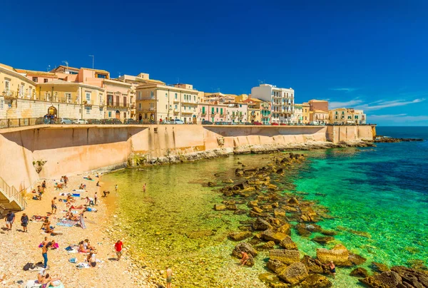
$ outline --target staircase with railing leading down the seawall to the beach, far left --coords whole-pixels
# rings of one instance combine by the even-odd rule
[[[26,208],[26,200],[22,197],[23,190],[16,190],[0,177],[0,215],[4,215],[4,210],[21,211]]]

